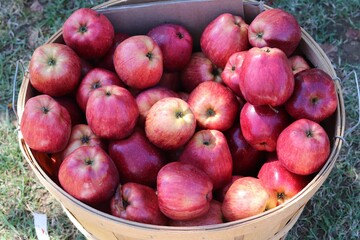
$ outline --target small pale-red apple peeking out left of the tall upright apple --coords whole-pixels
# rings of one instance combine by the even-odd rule
[[[236,52],[229,57],[221,78],[237,96],[243,97],[239,87],[241,66],[247,51]]]

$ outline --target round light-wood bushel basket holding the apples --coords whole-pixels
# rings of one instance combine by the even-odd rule
[[[186,4],[185,4],[186,2]],[[113,22],[115,29],[121,22],[126,22],[126,32],[130,34],[145,33],[155,24],[174,21],[189,28],[198,42],[199,35],[205,26],[218,14],[231,12],[243,16],[250,22],[257,14],[270,7],[256,1],[240,0],[194,0],[194,1],[109,1],[95,9],[102,12]],[[235,9],[235,10],[234,10]],[[150,14],[151,13],[151,14]],[[185,15],[185,17],[184,17]],[[156,16],[156,19],[153,18]],[[140,18],[140,20],[139,20]],[[194,22],[195,19],[195,22]],[[63,42],[62,30],[55,33],[48,42]],[[318,44],[302,29],[302,40],[299,46],[301,53],[317,68],[327,72],[333,79],[336,73]],[[35,175],[45,188],[57,199],[70,220],[88,239],[128,239],[128,240],[248,240],[248,239],[281,239],[293,227],[301,215],[305,204],[321,187],[331,172],[342,145],[341,137],[345,129],[345,108],[341,87],[335,80],[338,108],[325,123],[331,139],[331,153],[325,166],[313,180],[288,202],[262,214],[243,220],[201,227],[154,226],[113,217],[76,200],[49,176],[51,171],[46,164],[39,164],[43,155],[32,151],[24,142],[21,132],[18,139],[20,149]],[[24,76],[17,103],[19,118],[26,101],[34,96],[29,77]]]

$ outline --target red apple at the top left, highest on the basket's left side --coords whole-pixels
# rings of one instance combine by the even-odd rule
[[[73,12],[63,25],[66,45],[82,58],[97,59],[110,49],[115,32],[112,23],[104,14],[90,8]]]

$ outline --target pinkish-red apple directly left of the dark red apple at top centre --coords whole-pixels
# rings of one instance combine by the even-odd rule
[[[163,73],[163,55],[152,38],[131,36],[116,47],[114,67],[125,85],[145,89],[159,83]]]

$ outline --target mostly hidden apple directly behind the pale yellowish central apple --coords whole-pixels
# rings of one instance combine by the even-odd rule
[[[139,108],[139,123],[145,124],[145,119],[150,108],[160,99],[178,97],[177,93],[165,87],[152,87],[140,92],[135,100]]]

